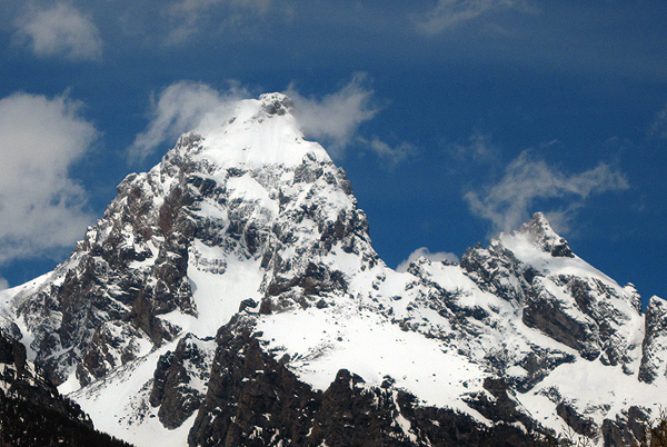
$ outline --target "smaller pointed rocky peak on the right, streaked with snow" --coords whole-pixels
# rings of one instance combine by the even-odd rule
[[[544,250],[545,256],[526,252],[530,246]],[[527,259],[520,259],[521,252]],[[564,262],[556,259],[559,257],[573,259]],[[516,234],[492,241],[488,249],[468,250],[461,267],[482,290],[522,307],[526,326],[587,360],[621,365],[626,374],[635,372],[630,365],[637,358],[638,294],[631,285],[623,289],[590,271],[575,258],[567,241],[555,236],[541,213]],[[581,275],[589,272],[593,275]]]

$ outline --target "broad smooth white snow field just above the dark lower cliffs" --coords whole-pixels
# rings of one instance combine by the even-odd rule
[[[344,309],[339,310],[339,307]],[[332,309],[332,310],[329,310]],[[266,349],[280,358],[288,354],[297,376],[325,390],[339,369],[348,369],[368,385],[379,386],[386,376],[396,387],[412,393],[429,406],[472,414],[461,400],[467,390],[481,390],[484,371],[446,344],[404,331],[376,312],[346,306],[295,310],[258,319],[257,330]]]

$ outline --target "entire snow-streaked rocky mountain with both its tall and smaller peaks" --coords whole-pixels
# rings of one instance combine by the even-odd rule
[[[137,446],[624,446],[667,391],[667,305],[541,213],[385,265],[289,98],[208,116],[53,271],[0,295],[43,376]],[[446,229],[444,229],[446,231]]]

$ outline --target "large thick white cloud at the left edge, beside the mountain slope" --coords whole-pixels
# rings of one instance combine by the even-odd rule
[[[79,109],[64,96],[0,100],[0,262],[69,247],[92,222],[69,177],[98,135]]]

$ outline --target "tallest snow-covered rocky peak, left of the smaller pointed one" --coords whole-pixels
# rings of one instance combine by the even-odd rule
[[[186,332],[213,336],[241,306],[345,290],[332,251],[352,255],[350,277],[377,264],[345,172],[291,108],[269,93],[211,112],[12,298],[51,380],[77,388]]]

